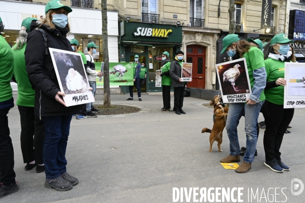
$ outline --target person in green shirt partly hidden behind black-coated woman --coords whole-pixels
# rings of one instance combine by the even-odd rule
[[[20,114],[20,142],[23,163],[26,163],[25,170],[31,170],[36,166],[36,172],[43,172],[43,143],[44,143],[44,125],[39,117],[35,118],[34,103],[35,90],[32,89],[29,77],[26,73],[24,51],[26,47],[26,38],[30,32],[32,21],[36,18],[25,18],[21,23],[21,30],[13,46],[14,53],[14,77],[18,84],[18,97],[16,104]],[[34,139],[33,139],[34,136]]]

